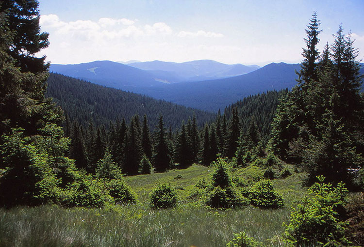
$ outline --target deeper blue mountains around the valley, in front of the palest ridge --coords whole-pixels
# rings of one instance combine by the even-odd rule
[[[167,65],[175,66],[174,63]],[[220,64],[217,63],[218,66]],[[165,71],[157,77],[150,71],[110,61],[53,64],[50,71],[188,107],[217,111],[245,96],[268,90],[291,89],[297,83],[295,70],[299,68],[299,64],[271,63],[241,76],[179,83],[165,83],[168,81]],[[176,76],[174,72],[168,73],[170,78]]]

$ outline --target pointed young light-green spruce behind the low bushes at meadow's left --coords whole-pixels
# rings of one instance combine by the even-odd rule
[[[97,163],[96,177],[107,179],[121,178],[121,170],[117,167],[109,150],[106,150],[104,157]]]

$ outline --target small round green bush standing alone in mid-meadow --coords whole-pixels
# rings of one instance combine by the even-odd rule
[[[170,184],[158,184],[149,194],[151,208],[171,208],[178,203],[178,197]]]

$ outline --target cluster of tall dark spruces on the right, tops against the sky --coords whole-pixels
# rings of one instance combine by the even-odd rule
[[[298,86],[281,98],[272,124],[270,148],[283,161],[303,164],[312,184],[317,175],[352,188],[348,169],[363,164],[363,77],[350,33],[340,26],[321,57],[315,46],[319,22],[308,26],[307,49]]]

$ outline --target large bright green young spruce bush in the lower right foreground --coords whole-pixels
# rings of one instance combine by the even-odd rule
[[[319,182],[309,189],[310,197],[291,211],[289,225],[283,224],[283,239],[293,246],[347,246],[343,210],[347,189],[343,183],[332,187],[323,183],[323,176],[317,178]]]

